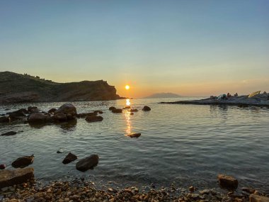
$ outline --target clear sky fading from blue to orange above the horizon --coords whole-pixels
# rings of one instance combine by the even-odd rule
[[[140,98],[269,91],[268,66],[268,0],[0,0],[0,72]]]

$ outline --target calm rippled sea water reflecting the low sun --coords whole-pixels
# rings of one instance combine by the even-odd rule
[[[12,169],[13,160],[34,154],[32,166],[41,181],[83,176],[122,185],[216,187],[217,174],[223,173],[236,176],[239,186],[269,191],[268,108],[159,103],[177,100],[131,100],[132,107],[139,109],[134,116],[108,111],[109,106],[125,106],[125,100],[74,102],[79,113],[103,111],[103,121],[87,123],[81,118],[62,125],[0,125],[0,133],[23,130],[0,136],[0,164]],[[0,113],[28,106],[47,111],[62,104],[0,106]],[[151,111],[142,111],[144,105]],[[136,132],[142,135],[125,136]],[[59,148],[63,154],[56,153]],[[62,164],[68,152],[79,158],[98,154],[100,161],[95,169],[81,173],[75,169],[76,162]]]

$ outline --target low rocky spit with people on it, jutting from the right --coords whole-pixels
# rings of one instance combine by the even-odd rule
[[[269,107],[269,94],[257,94],[255,96],[230,96],[226,99],[216,99],[212,96],[207,99],[192,100],[192,101],[173,101],[173,102],[161,102],[170,104],[196,104],[196,105],[227,105],[227,106],[260,106]]]

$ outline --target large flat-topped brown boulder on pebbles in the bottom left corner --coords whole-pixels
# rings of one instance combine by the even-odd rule
[[[27,182],[34,177],[33,168],[0,171],[0,189]]]

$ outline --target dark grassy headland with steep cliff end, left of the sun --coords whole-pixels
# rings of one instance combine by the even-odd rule
[[[103,80],[57,83],[29,74],[0,72],[0,103],[123,99]]]

